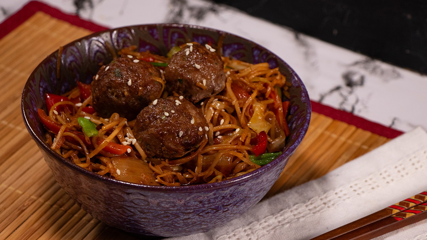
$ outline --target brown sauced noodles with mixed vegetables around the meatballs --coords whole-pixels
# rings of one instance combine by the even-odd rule
[[[156,62],[168,62],[168,58],[132,50],[124,49],[122,54],[150,55]],[[88,171],[142,184],[210,183],[254,171],[260,165],[252,162],[250,155],[256,152],[254,147],[260,145],[258,137],[262,132],[266,133],[264,151],[278,152],[285,145],[289,134],[285,103],[289,99],[287,89],[290,83],[278,68],[270,69],[268,63],[249,64],[224,57],[222,61],[227,76],[225,89],[196,104],[208,122],[207,139],[183,157],[147,157],[133,133],[135,120],[127,121],[117,113],[104,119],[96,112],[85,110],[91,106],[92,96],[77,103],[58,101],[48,109],[48,116],[39,110],[42,122],[50,130],[46,134],[47,144],[65,159]],[[163,91],[164,81],[161,78],[159,81],[165,98],[168,93]],[[76,87],[63,96],[78,99],[80,95],[82,88]],[[68,110],[58,113],[56,107]],[[83,134],[78,117],[93,122],[98,135],[88,137]],[[114,150],[119,145],[122,152],[125,150],[123,154]]]

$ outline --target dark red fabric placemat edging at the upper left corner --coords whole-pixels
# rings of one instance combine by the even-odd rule
[[[95,23],[83,20],[77,15],[70,15],[61,12],[60,10],[46,5],[45,3],[31,1],[25,6],[23,6],[22,9],[20,9],[18,12],[4,20],[3,23],[0,23],[0,38],[3,38],[4,36],[8,35],[9,32],[12,32],[13,29],[20,26],[23,22],[25,22],[28,18],[30,18],[38,11],[44,12],[52,17],[67,21],[75,26],[79,26],[91,30],[93,32],[108,29],[108,27],[106,26],[100,26]]]

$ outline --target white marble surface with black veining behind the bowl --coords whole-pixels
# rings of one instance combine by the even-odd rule
[[[0,21],[27,0],[0,0]],[[300,75],[310,98],[401,131],[427,129],[427,76],[206,0],[44,0],[102,26],[189,23],[253,40]],[[78,7],[77,7],[78,6]]]

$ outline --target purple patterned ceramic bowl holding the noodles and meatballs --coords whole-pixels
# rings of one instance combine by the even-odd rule
[[[137,50],[166,55],[172,46],[189,41],[211,43],[222,53],[249,63],[268,62],[279,67],[290,89],[290,136],[283,154],[263,167],[234,179],[191,186],[147,186],[100,176],[68,162],[44,142],[46,130],[37,109],[46,110],[43,94],[62,94],[76,80],[90,83],[99,63],[112,60],[110,49],[131,45]],[[307,132],[311,107],[307,90],[298,75],[262,46],[218,30],[182,24],[129,26],[96,32],[64,46],[60,76],[56,75],[58,51],[32,72],[22,95],[26,127],[37,143],[56,181],[85,211],[102,222],[135,234],[180,236],[208,231],[239,217],[271,188]]]

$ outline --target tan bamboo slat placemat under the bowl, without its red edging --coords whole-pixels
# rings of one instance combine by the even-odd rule
[[[136,239],[100,223],[55,182],[20,113],[37,64],[91,31],[37,12],[0,39],[0,239]],[[268,196],[315,179],[388,138],[313,113],[304,141]]]

